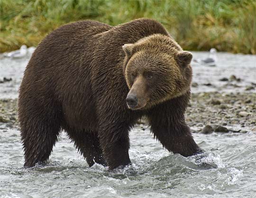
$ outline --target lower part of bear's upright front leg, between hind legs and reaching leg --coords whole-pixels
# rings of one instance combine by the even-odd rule
[[[99,138],[109,170],[131,163],[128,153],[130,145],[127,127],[115,124],[113,127],[101,130]]]

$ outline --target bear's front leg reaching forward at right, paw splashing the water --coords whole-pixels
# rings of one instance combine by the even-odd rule
[[[193,140],[191,131],[185,122],[184,113],[188,99],[189,95],[174,98],[155,106],[148,114],[154,137],[168,151],[185,157],[203,152]]]

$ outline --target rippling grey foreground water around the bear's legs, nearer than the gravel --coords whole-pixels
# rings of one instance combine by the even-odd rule
[[[109,172],[99,164],[89,168],[64,133],[49,164],[25,169],[19,131],[0,129],[0,198],[215,198],[255,193],[254,133],[210,134],[206,142],[206,135],[194,134],[206,152],[187,158],[163,149],[149,129],[137,126],[130,135],[133,164],[124,169]]]

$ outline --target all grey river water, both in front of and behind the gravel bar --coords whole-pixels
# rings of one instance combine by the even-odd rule
[[[208,52],[193,52],[205,58]],[[255,92],[256,56],[217,53],[216,67],[192,64],[192,92]],[[15,99],[29,56],[0,59],[0,98]],[[235,75],[235,82],[219,81]],[[230,83],[231,82],[231,83]],[[0,110],[1,111],[1,110]],[[0,112],[1,113],[1,112]],[[49,163],[23,168],[19,129],[0,122],[0,198],[253,198],[256,197],[256,132],[194,133],[206,153],[183,157],[167,152],[150,129],[130,132],[132,165],[108,171],[86,161],[62,132]]]

